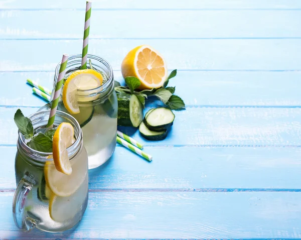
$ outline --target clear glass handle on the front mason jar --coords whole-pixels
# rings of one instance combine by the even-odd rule
[[[28,216],[26,213],[26,198],[33,186],[35,185],[34,178],[24,175],[19,182],[13,200],[13,215],[14,220],[20,229],[23,231],[30,231],[35,228],[37,221]]]

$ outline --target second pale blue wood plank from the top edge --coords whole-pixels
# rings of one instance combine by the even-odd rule
[[[0,39],[82,40],[85,11],[64,11],[64,17],[70,21],[66,25],[61,24],[58,14],[57,11],[2,11]],[[100,24],[108,19],[114,21]],[[300,38],[300,22],[301,11],[94,10],[89,38]]]

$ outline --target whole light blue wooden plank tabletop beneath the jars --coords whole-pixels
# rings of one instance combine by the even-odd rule
[[[75,229],[18,230],[13,115],[45,104],[27,78],[51,88],[62,53],[81,52],[84,10],[0,0],[0,238],[300,238],[299,0],[94,0],[89,53],[122,82],[126,53],[153,46],[178,69],[171,85],[187,108],[162,142],[132,133],[152,163],[117,146],[89,172]]]

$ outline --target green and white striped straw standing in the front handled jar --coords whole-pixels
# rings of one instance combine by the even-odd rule
[[[50,110],[50,114],[49,114],[49,119],[48,119],[48,124],[47,124],[48,130],[53,128],[55,113],[56,113],[56,109],[58,107],[58,103],[59,103],[59,99],[60,99],[60,95],[61,95],[61,89],[62,89],[62,85],[63,85],[62,80],[65,76],[67,62],[68,62],[68,54],[64,53],[63,57],[62,57],[58,81],[55,86],[55,92],[54,92],[54,96],[53,96],[51,110]]]

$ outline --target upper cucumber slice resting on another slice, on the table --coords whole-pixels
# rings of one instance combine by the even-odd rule
[[[167,130],[174,124],[175,114],[171,109],[159,107],[150,112],[143,122],[151,131]]]

